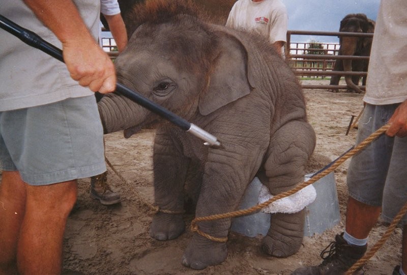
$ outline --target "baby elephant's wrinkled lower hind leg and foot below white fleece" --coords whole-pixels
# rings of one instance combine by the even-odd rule
[[[261,251],[279,258],[297,253],[304,237],[304,214],[305,210],[272,215],[269,232],[261,240]]]

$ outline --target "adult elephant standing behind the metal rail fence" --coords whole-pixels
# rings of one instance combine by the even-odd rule
[[[340,22],[339,32],[352,33],[373,33],[375,22],[368,19],[365,14],[348,14]],[[370,56],[372,44],[371,37],[340,36],[339,37],[339,56]],[[369,62],[367,60],[336,60],[334,71],[367,71]],[[331,77],[331,85],[338,85],[341,75]],[[363,92],[359,87],[359,75],[345,75],[345,81],[348,88],[357,93]],[[363,77],[362,85],[366,85],[366,77]]]

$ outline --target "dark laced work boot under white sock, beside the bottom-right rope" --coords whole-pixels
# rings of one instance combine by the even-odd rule
[[[367,244],[363,246],[347,244],[343,233],[335,236],[326,249],[321,252],[324,259],[318,266],[305,266],[297,268],[292,275],[341,275],[356,263],[366,252]],[[362,275],[364,271],[359,268],[354,274]]]

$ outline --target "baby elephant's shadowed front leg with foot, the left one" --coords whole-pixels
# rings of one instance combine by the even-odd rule
[[[157,132],[154,143],[154,199],[159,212],[153,217],[151,237],[170,240],[185,230],[183,186],[188,158],[181,154],[170,136]]]

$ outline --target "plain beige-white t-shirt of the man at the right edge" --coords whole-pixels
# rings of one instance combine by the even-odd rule
[[[374,105],[407,99],[407,1],[382,0],[370,54],[364,101]]]

